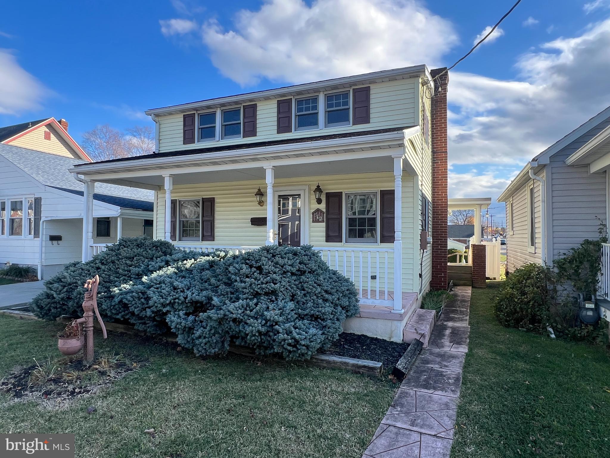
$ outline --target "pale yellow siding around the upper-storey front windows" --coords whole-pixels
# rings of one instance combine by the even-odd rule
[[[287,134],[277,134],[277,100],[257,101],[257,135],[245,139],[221,140],[220,142],[199,142],[182,144],[182,114],[159,116],[159,150],[175,151],[191,148],[213,147],[215,145],[240,144],[256,141],[279,140],[308,137],[312,135],[339,134],[350,131],[384,129],[417,125],[418,78],[400,79],[371,84],[371,122],[356,126],[342,126],[312,129]],[[285,98],[285,97],[282,97]],[[353,104],[353,100],[350,101]],[[323,107],[320,107],[322,109]],[[203,112],[203,110],[201,111]]]

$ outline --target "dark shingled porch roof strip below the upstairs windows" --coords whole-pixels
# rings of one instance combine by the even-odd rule
[[[374,134],[385,134],[389,132],[398,132],[404,131],[404,129],[409,129],[413,126],[403,126],[403,127],[392,127],[386,129],[375,129],[368,131],[356,131],[356,132],[344,132],[341,134],[329,134],[329,135],[312,135],[309,137],[299,137],[299,138],[287,138],[287,139],[279,139],[279,140],[267,140],[264,142],[249,142],[249,143],[240,143],[240,144],[228,144],[228,145],[220,145],[215,147],[208,148],[192,148],[190,150],[178,150],[178,151],[166,151],[165,153],[152,153],[152,154],[143,154],[142,156],[132,156],[131,158],[118,158],[118,159],[107,159],[106,161],[97,161],[97,162],[85,162],[84,164],[79,165],[91,165],[91,164],[105,164],[107,162],[122,162],[122,161],[134,161],[136,159],[150,159],[150,158],[171,158],[173,156],[188,156],[191,154],[203,154],[203,153],[220,153],[221,151],[234,151],[234,150],[246,150],[247,148],[261,148],[261,147],[271,147],[275,145],[290,145],[296,143],[306,143],[306,142],[315,142],[317,140],[334,140],[334,139],[343,139],[349,137],[361,137],[367,135]]]

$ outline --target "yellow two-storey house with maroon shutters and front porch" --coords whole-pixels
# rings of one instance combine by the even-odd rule
[[[447,73],[442,90],[434,72],[417,65],[151,109],[154,154],[71,171],[89,193],[96,182],[155,191],[155,236],[186,250],[313,245],[356,284],[361,313],[346,330],[400,341],[431,284],[437,193],[447,263]]]

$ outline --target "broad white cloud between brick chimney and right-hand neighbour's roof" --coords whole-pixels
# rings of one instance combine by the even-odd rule
[[[610,20],[544,43],[516,64],[521,81],[450,75],[450,162],[525,164],[608,106]]]

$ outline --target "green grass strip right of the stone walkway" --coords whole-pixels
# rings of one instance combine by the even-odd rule
[[[606,349],[501,327],[492,313],[497,291],[472,291],[451,456],[610,457]]]

